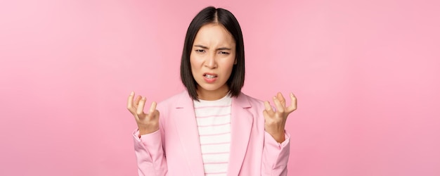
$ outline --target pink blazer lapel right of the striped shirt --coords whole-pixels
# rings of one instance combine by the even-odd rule
[[[240,94],[237,98],[233,98],[228,175],[238,175],[247,151],[252,123],[254,122],[254,117],[247,108],[251,108],[251,105],[245,94]]]

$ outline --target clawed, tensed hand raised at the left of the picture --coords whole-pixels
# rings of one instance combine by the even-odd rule
[[[131,92],[127,101],[127,109],[134,115],[136,123],[138,124],[139,135],[149,134],[159,130],[159,111],[156,109],[157,103],[153,101],[148,113],[143,112],[145,101],[147,99],[142,96],[136,97],[134,100],[134,92]]]

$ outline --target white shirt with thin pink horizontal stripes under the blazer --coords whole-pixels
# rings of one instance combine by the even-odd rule
[[[193,102],[205,175],[226,175],[231,146],[232,98],[228,94],[215,101]]]

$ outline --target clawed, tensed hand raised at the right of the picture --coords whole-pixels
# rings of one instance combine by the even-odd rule
[[[273,96],[273,103],[275,103],[275,111],[272,109],[269,101],[264,101],[266,109],[263,111],[264,115],[264,130],[271,134],[276,142],[284,142],[284,127],[287,120],[287,116],[297,109],[297,97],[290,93],[291,104],[285,106],[285,99],[283,94],[278,92],[276,96]]]

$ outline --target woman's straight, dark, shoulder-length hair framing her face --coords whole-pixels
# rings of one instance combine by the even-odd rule
[[[243,44],[243,35],[240,25],[235,16],[224,8],[214,8],[209,6],[200,11],[191,21],[186,31],[185,43],[183,44],[183,53],[181,60],[181,80],[188,90],[188,94],[193,100],[198,100],[197,82],[195,82],[193,73],[191,72],[190,54],[193,49],[195,35],[200,27],[209,23],[218,23],[223,25],[235,40],[235,61],[231,76],[229,76],[228,84],[231,96],[237,97],[243,84],[245,84],[245,46]]]

